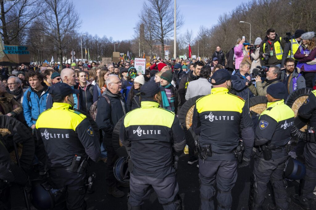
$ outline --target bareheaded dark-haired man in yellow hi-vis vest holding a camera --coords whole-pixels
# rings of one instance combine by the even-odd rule
[[[267,37],[263,40],[259,50],[260,58],[264,61],[263,66],[276,65],[281,68],[285,44],[285,40],[278,37],[273,28],[268,29]]]

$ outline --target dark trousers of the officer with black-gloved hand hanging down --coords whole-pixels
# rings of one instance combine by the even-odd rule
[[[201,181],[201,209],[214,209],[215,188],[217,185],[217,209],[231,209],[233,189],[237,180],[237,159],[233,153],[212,154],[203,162],[199,159],[199,178]]]

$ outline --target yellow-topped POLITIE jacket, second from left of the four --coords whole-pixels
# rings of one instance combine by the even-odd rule
[[[120,129],[122,144],[131,147],[134,167],[147,173],[172,166],[173,150],[179,152],[185,147],[178,117],[158,106],[154,101],[142,101],[141,108],[126,114]]]

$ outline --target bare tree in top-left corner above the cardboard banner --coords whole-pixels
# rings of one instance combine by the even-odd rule
[[[42,12],[41,0],[0,0],[0,34],[4,44],[21,44],[25,30]]]

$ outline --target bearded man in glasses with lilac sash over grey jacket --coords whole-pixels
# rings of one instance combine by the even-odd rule
[[[281,72],[281,79],[287,88],[285,98],[293,91],[306,88],[305,78],[298,73],[295,67],[295,60],[293,58],[286,58],[284,60],[285,69]]]

